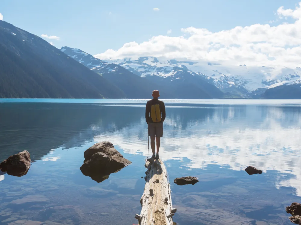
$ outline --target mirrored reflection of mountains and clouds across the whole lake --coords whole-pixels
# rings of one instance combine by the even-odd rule
[[[208,102],[208,101],[206,101]],[[126,106],[124,106],[126,105]],[[126,153],[147,156],[145,103],[0,104],[0,161],[28,150],[33,161],[56,161],[51,151],[91,141],[110,141]],[[231,170],[255,166],[279,171],[276,187],[301,196],[300,105],[166,103],[163,160],[189,159],[189,168],[209,164]],[[187,162],[187,160],[185,160]],[[184,164],[184,162],[183,162]],[[282,174],[292,174],[286,179]],[[4,179],[0,175],[0,180]]]

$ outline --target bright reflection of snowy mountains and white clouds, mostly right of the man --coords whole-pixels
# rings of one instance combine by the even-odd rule
[[[232,170],[244,170],[250,165],[264,172],[276,170],[276,187],[295,187],[301,196],[300,107],[167,106],[166,112],[160,147],[163,160],[188,158],[185,166],[189,168],[205,169],[217,164]],[[98,131],[101,127],[102,124],[94,124],[91,129]],[[127,153],[147,155],[144,116],[122,129],[99,133],[94,137],[96,142],[109,140]],[[294,177],[286,180],[281,173]]]

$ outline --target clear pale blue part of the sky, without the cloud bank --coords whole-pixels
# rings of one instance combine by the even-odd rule
[[[129,44],[126,53],[115,52],[125,43],[141,44],[159,35],[192,36],[194,31],[181,31],[189,27],[199,29],[196,32],[200,29],[207,29],[214,34],[223,30],[230,31],[237,26],[246,27],[258,23],[270,26],[278,26],[283,22],[294,23],[296,18],[292,18],[291,15],[286,19],[279,18],[290,12],[283,11],[284,14],[279,16],[277,10],[281,6],[284,9],[294,10],[298,2],[296,0],[1,0],[0,13],[3,15],[3,20],[35,35],[59,37],[59,40],[46,38],[58,48],[61,46],[80,48],[92,55],[113,49],[114,52],[111,54],[99,55],[99,57],[106,58],[130,56],[132,50],[135,49],[132,44]],[[154,10],[154,8],[159,10]],[[167,33],[168,30],[170,30],[169,33]],[[203,40],[198,38],[200,41]],[[220,44],[219,47],[216,43],[213,43],[214,46],[211,43],[206,51],[222,48],[225,44],[221,42],[217,41],[217,44]],[[294,43],[296,44],[299,46],[299,43]],[[233,47],[233,43],[231,46]],[[176,48],[172,46],[169,49]],[[163,49],[166,51],[166,48]],[[145,54],[145,51],[139,54],[137,51],[134,55]],[[156,52],[150,52],[150,54],[156,55]],[[191,58],[193,54],[186,55]],[[205,57],[204,52],[199,55],[199,58]],[[233,57],[237,58],[235,55]],[[269,59],[275,57],[275,55],[267,56]],[[250,62],[252,61],[250,59]]]

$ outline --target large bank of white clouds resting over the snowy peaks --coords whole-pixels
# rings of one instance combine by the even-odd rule
[[[291,17],[294,22],[277,26],[254,24],[237,26],[230,30],[210,32],[188,27],[182,36],[154,36],[140,44],[129,42],[118,50],[108,49],[95,57],[118,59],[125,57],[155,56],[187,58],[218,62],[225,65],[286,67],[301,66],[301,3],[296,9],[277,10],[278,16]],[[184,36],[184,34],[187,34]]]

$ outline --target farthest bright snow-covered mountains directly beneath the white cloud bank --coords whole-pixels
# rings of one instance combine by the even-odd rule
[[[258,88],[265,88],[283,81],[294,81],[301,76],[301,68],[272,68],[223,66],[198,61],[166,60],[154,57],[124,58],[111,61],[125,67],[140,76],[171,77],[175,70],[185,68],[188,72],[198,74],[224,92],[246,94]],[[172,69],[175,68],[175,69]]]

